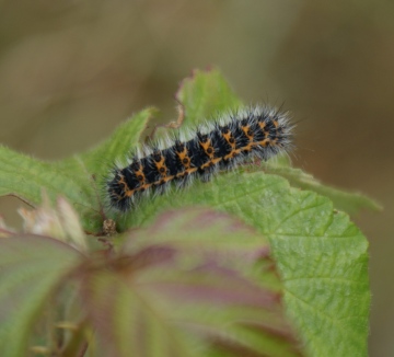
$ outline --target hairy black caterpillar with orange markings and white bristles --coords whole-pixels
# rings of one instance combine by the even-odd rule
[[[251,159],[268,160],[292,148],[287,113],[256,106],[236,111],[195,130],[138,148],[127,165],[115,165],[106,181],[109,205],[127,211],[150,194],[177,188],[195,178],[209,181],[218,171],[232,170]]]

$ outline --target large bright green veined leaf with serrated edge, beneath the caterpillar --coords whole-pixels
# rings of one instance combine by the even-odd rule
[[[222,174],[170,196],[143,203],[121,229],[148,224],[169,208],[196,205],[242,218],[269,239],[289,316],[311,356],[367,355],[368,243],[328,198],[260,172]]]

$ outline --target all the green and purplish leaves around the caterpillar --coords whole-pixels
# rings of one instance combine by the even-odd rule
[[[177,100],[157,135],[242,105],[217,70]],[[0,230],[1,355],[366,356],[368,242],[337,209],[378,206],[279,160],[115,214],[104,177],[153,114],[55,163],[0,147],[0,195],[37,207]],[[123,233],[95,238],[109,218]]]

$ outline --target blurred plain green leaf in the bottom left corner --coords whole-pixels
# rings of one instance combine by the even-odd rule
[[[38,235],[0,239],[0,355],[26,356],[44,306],[82,255]]]

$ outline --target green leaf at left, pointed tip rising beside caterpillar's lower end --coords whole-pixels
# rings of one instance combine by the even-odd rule
[[[97,148],[72,158],[47,163],[0,147],[0,195],[14,195],[37,206],[42,192],[55,199],[65,196],[79,212],[83,228],[97,233],[102,228],[103,177],[115,158],[121,160],[140,139],[153,110],[146,110],[120,125]]]

